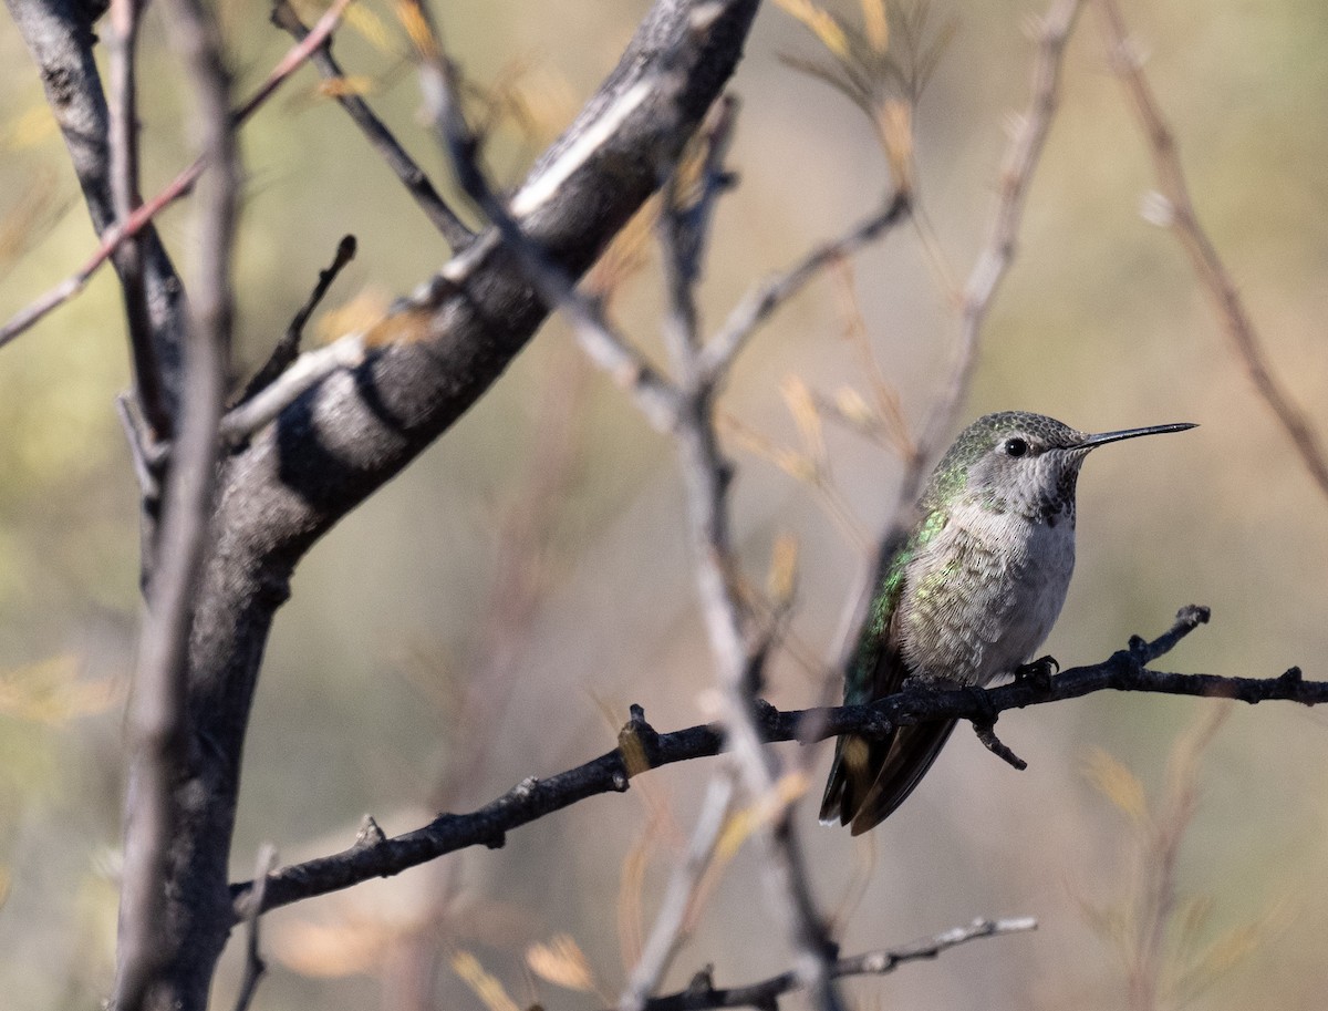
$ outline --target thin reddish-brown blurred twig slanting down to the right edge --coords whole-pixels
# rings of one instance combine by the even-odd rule
[[[1328,454],[1305,412],[1274,375],[1263,341],[1250,319],[1244,299],[1240,298],[1240,290],[1218,255],[1212,239],[1199,223],[1198,211],[1190,198],[1190,186],[1181,167],[1181,155],[1177,153],[1175,134],[1162,118],[1157,97],[1147,77],[1143,76],[1143,60],[1130,41],[1121,8],[1116,0],[1098,0],[1097,9],[1101,15],[1112,69],[1134,101],[1139,128],[1153,157],[1153,169],[1167,205],[1166,223],[1190,256],[1194,272],[1211,299],[1246,372],[1250,373],[1255,392],[1286,429],[1311,480],[1328,496]]]

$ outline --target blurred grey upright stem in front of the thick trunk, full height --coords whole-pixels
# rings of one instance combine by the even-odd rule
[[[147,574],[147,607],[129,708],[129,794],[120,911],[117,1011],[175,1003],[165,972],[183,943],[167,925],[170,849],[179,818],[177,785],[190,760],[186,697],[187,644],[195,589],[208,545],[232,320],[231,255],[239,157],[230,114],[230,74],[220,35],[201,0],[174,0],[167,19],[197,92],[199,161],[211,165],[198,199],[198,272],[185,347],[179,436],[174,442],[158,533]]]

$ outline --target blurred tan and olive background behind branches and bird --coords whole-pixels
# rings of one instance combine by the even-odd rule
[[[475,110],[491,113],[486,154],[499,182],[519,181],[645,8],[437,5],[452,53],[483,96]],[[830,9],[863,24],[857,3]],[[355,86],[445,179],[418,125],[390,5],[363,0],[352,11],[336,48]],[[988,231],[1008,116],[1027,101],[1032,13],[1005,0],[939,0],[932,11],[936,25],[954,21],[954,35],[914,110],[916,173],[960,276]],[[1323,429],[1328,8],[1169,0],[1130,3],[1126,15],[1203,222],[1278,373]],[[222,16],[243,93],[288,40],[258,0],[223,0]],[[768,5],[734,81],[744,105],[730,165],[741,185],[722,201],[701,291],[712,325],[757,279],[863,217],[888,187],[870,124],[789,65],[825,58],[805,28]],[[73,270],[93,236],[16,32],[0,31],[0,66],[7,318]],[[155,9],[139,80],[150,193],[190,157],[187,90]],[[242,369],[262,361],[343,234],[356,234],[360,255],[333,290],[324,336],[339,312],[381,304],[445,259],[312,72],[242,141]],[[964,417],[1020,407],[1089,430],[1202,424],[1089,464],[1078,575],[1048,644],[1062,663],[1102,659],[1193,600],[1212,606],[1214,623],[1167,658],[1173,668],[1275,675],[1299,663],[1309,678],[1328,676],[1328,504],[1254,397],[1173,238],[1138,214],[1151,185],[1088,11]],[[187,211],[167,211],[159,227],[187,270]],[[644,268],[618,287],[614,312],[663,360],[655,254],[647,243],[640,255]],[[850,282],[863,339],[914,424],[957,329],[916,235],[902,230],[813,284],[740,361],[721,407],[752,579],[764,578],[781,538],[797,543],[790,644],[769,678],[778,705],[819,697],[817,664],[863,565],[862,533],[884,521],[900,472],[895,454],[830,421],[822,484],[833,494],[790,464],[806,434],[806,416],[790,405],[807,392],[872,397],[861,345],[846,337]],[[118,291],[102,272],[0,355],[0,992],[16,1008],[92,1006],[113,961],[120,709],[138,614],[135,489],[112,408],[126,384],[122,331]],[[671,446],[582,363],[566,328],[548,324],[461,424],[299,569],[256,699],[235,875],[251,875],[264,841],[293,861],[348,845],[364,812],[400,832],[576,764],[612,745],[628,703],[660,728],[708,717],[681,513]],[[866,841],[819,829],[803,804],[815,883],[846,951],[975,915],[1031,914],[1041,925],[855,982],[854,1002],[1323,1007],[1324,716],[1236,707],[1218,731],[1204,723],[1214,707],[1097,695],[1008,713],[1001,735],[1028,772],[956,735],[926,785]],[[673,767],[636,780],[625,797],[517,832],[506,849],[271,915],[274,971],[256,1007],[499,1007],[499,991],[519,1007],[603,1004],[648,927],[708,772]],[[1163,866],[1170,905],[1155,887]],[[1141,938],[1159,915],[1150,947]],[[721,984],[786,966],[746,850],[714,882],[671,982],[706,962]],[[238,966],[231,953],[215,991],[222,1006]],[[1153,974],[1154,1003],[1139,1003],[1141,971]]]

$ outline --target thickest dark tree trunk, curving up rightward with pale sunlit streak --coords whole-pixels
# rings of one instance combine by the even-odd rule
[[[677,158],[733,73],[757,7],[657,0],[618,69],[517,193],[513,218],[566,276],[580,276],[657,187],[660,165]],[[278,69],[288,73],[287,62]],[[223,457],[190,624],[191,763],[174,782],[178,817],[161,882],[166,922],[179,927],[165,972],[181,1011],[206,1006],[234,923],[227,865],[244,735],[295,565],[474,404],[546,315],[523,266],[490,231],[355,335],[348,359],[359,364],[278,404],[271,424]]]

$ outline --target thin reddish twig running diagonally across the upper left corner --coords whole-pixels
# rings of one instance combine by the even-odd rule
[[[343,12],[351,4],[351,0],[333,0],[332,7],[328,8],[327,13],[319,19],[319,23],[313,25],[308,36],[303,43],[295,45],[282,61],[272,69],[263,85],[255,92],[255,94],[244,102],[239,109],[230,114],[231,126],[238,129],[240,124],[248,120],[250,116],[264,102],[268,97],[286,81],[295,69],[309,57],[309,54],[323,44],[323,41],[331,35],[332,29],[336,28],[341,19]],[[157,217],[162,209],[170,206],[181,197],[186,195],[194,189],[194,183],[198,182],[199,175],[203,174],[203,169],[208,165],[207,155],[199,155],[187,169],[185,169],[179,175],[177,175],[171,182],[153,197],[146,203],[142,203],[133,211],[125,221],[117,222],[113,227],[102,232],[101,244],[93,251],[88,260],[73,274],[60,282],[56,287],[50,288],[45,295],[28,303],[27,307],[19,310],[9,322],[0,327],[0,348],[8,344],[11,340],[17,337],[24,331],[33,327],[42,318],[46,316],[52,310],[58,308],[88,284],[92,275],[96,274],[101,266],[110,259],[110,256],[120,248],[121,243],[138,235],[151,221]]]

